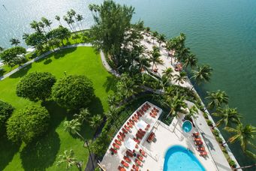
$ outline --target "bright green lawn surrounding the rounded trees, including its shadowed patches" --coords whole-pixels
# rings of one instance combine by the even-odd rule
[[[84,74],[92,80],[95,87],[96,98],[89,106],[93,114],[103,113],[107,110],[107,95],[113,93],[113,77],[107,73],[101,64],[100,55],[96,55],[91,47],[77,47],[64,49],[62,52],[50,55],[27,66],[22,71],[13,74],[10,78],[0,81],[0,99],[12,104],[16,110],[26,105],[34,104],[15,94],[16,86],[21,77],[35,71],[47,71],[57,78],[66,74]],[[37,103],[40,105],[40,102]],[[65,149],[73,149],[76,157],[83,160],[84,166],[88,160],[88,151],[83,148],[83,142],[71,136],[63,129],[63,121],[71,119],[73,113],[66,113],[64,109],[54,102],[42,104],[50,113],[50,130],[29,145],[12,145],[5,137],[0,141],[0,170],[64,170],[65,164],[56,166],[59,154]],[[94,130],[84,125],[81,133],[92,138]],[[72,170],[77,170],[74,167]]]

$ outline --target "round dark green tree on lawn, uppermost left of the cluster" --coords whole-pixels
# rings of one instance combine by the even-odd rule
[[[50,98],[56,78],[47,72],[31,73],[23,77],[17,85],[17,96],[28,98],[30,101],[45,101]]]

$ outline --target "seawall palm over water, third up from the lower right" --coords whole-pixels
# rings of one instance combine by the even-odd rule
[[[207,95],[206,99],[209,101],[207,108],[209,110],[221,107],[222,104],[228,104],[228,96],[224,91],[207,92]]]

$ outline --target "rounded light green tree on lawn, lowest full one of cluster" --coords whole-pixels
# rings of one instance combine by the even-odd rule
[[[8,139],[12,142],[29,143],[47,130],[49,120],[50,115],[44,107],[26,107],[8,119]]]

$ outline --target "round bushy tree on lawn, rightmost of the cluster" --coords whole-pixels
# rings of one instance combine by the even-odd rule
[[[92,81],[85,76],[64,77],[53,86],[53,99],[68,110],[85,107],[93,97]]]

